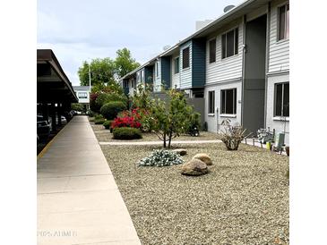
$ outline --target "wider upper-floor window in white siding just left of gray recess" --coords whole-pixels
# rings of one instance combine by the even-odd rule
[[[221,53],[223,59],[238,54],[238,28],[221,36]]]

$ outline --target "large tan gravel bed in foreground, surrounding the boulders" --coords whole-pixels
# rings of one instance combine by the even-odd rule
[[[136,165],[159,147],[101,146],[142,244],[288,244],[288,156],[245,144],[176,147],[185,161],[211,156],[210,173]]]

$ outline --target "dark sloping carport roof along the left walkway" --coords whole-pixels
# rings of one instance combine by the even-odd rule
[[[51,49],[38,49],[38,103],[73,103],[78,98],[72,83]]]

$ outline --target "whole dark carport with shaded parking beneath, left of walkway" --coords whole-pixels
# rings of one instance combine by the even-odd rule
[[[37,110],[45,118],[52,118],[52,130],[56,131],[56,126],[62,124],[61,115],[69,120],[67,115],[71,103],[78,102],[78,99],[51,49],[38,49],[37,63]]]

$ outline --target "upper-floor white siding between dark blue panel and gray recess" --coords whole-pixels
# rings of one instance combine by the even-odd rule
[[[243,25],[238,26],[238,54],[222,59],[221,58],[221,36],[216,36],[216,62],[209,63],[209,40],[206,45],[206,84],[223,80],[235,80],[242,77],[242,60],[243,60]]]

